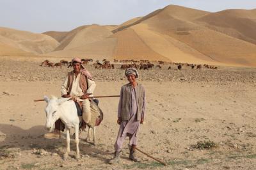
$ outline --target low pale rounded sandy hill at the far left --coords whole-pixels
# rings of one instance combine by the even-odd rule
[[[59,45],[51,36],[6,27],[0,27],[0,42],[34,54],[50,52]]]

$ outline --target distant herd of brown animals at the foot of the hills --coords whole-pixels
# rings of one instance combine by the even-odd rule
[[[99,60],[95,61],[93,63],[93,59],[81,59],[83,65],[92,65],[95,69],[115,69],[115,65],[113,63],[110,63],[110,61],[103,59],[102,62]],[[174,65],[177,67],[177,69],[181,70],[183,66],[190,67],[191,69],[201,69],[201,68],[209,68],[209,69],[217,69],[216,66],[210,66],[210,65],[195,65],[195,64],[188,64],[188,63],[172,63],[172,62],[165,62],[165,61],[148,61],[148,60],[117,60],[114,59],[114,63],[120,63],[120,69],[127,69],[127,68],[136,68],[140,70],[149,70],[152,68],[163,68],[164,65]],[[155,65],[153,64],[155,63]],[[60,67],[62,66],[68,66],[71,67],[71,61],[65,61],[61,59],[59,63],[52,63],[49,60],[45,60],[42,62],[40,66],[49,66],[49,67]],[[171,69],[171,66],[168,66],[168,70]]]

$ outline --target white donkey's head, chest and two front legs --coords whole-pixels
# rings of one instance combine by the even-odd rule
[[[77,109],[75,103],[70,98],[56,98],[49,99],[44,96],[44,100],[47,103],[45,112],[47,114],[46,128],[50,132],[54,130],[55,121],[60,119],[64,124],[67,132],[67,151],[64,154],[63,159],[68,158],[70,152],[70,129],[75,128],[76,136],[76,158],[79,158],[79,117],[77,116]],[[68,101],[70,100],[70,101]]]

